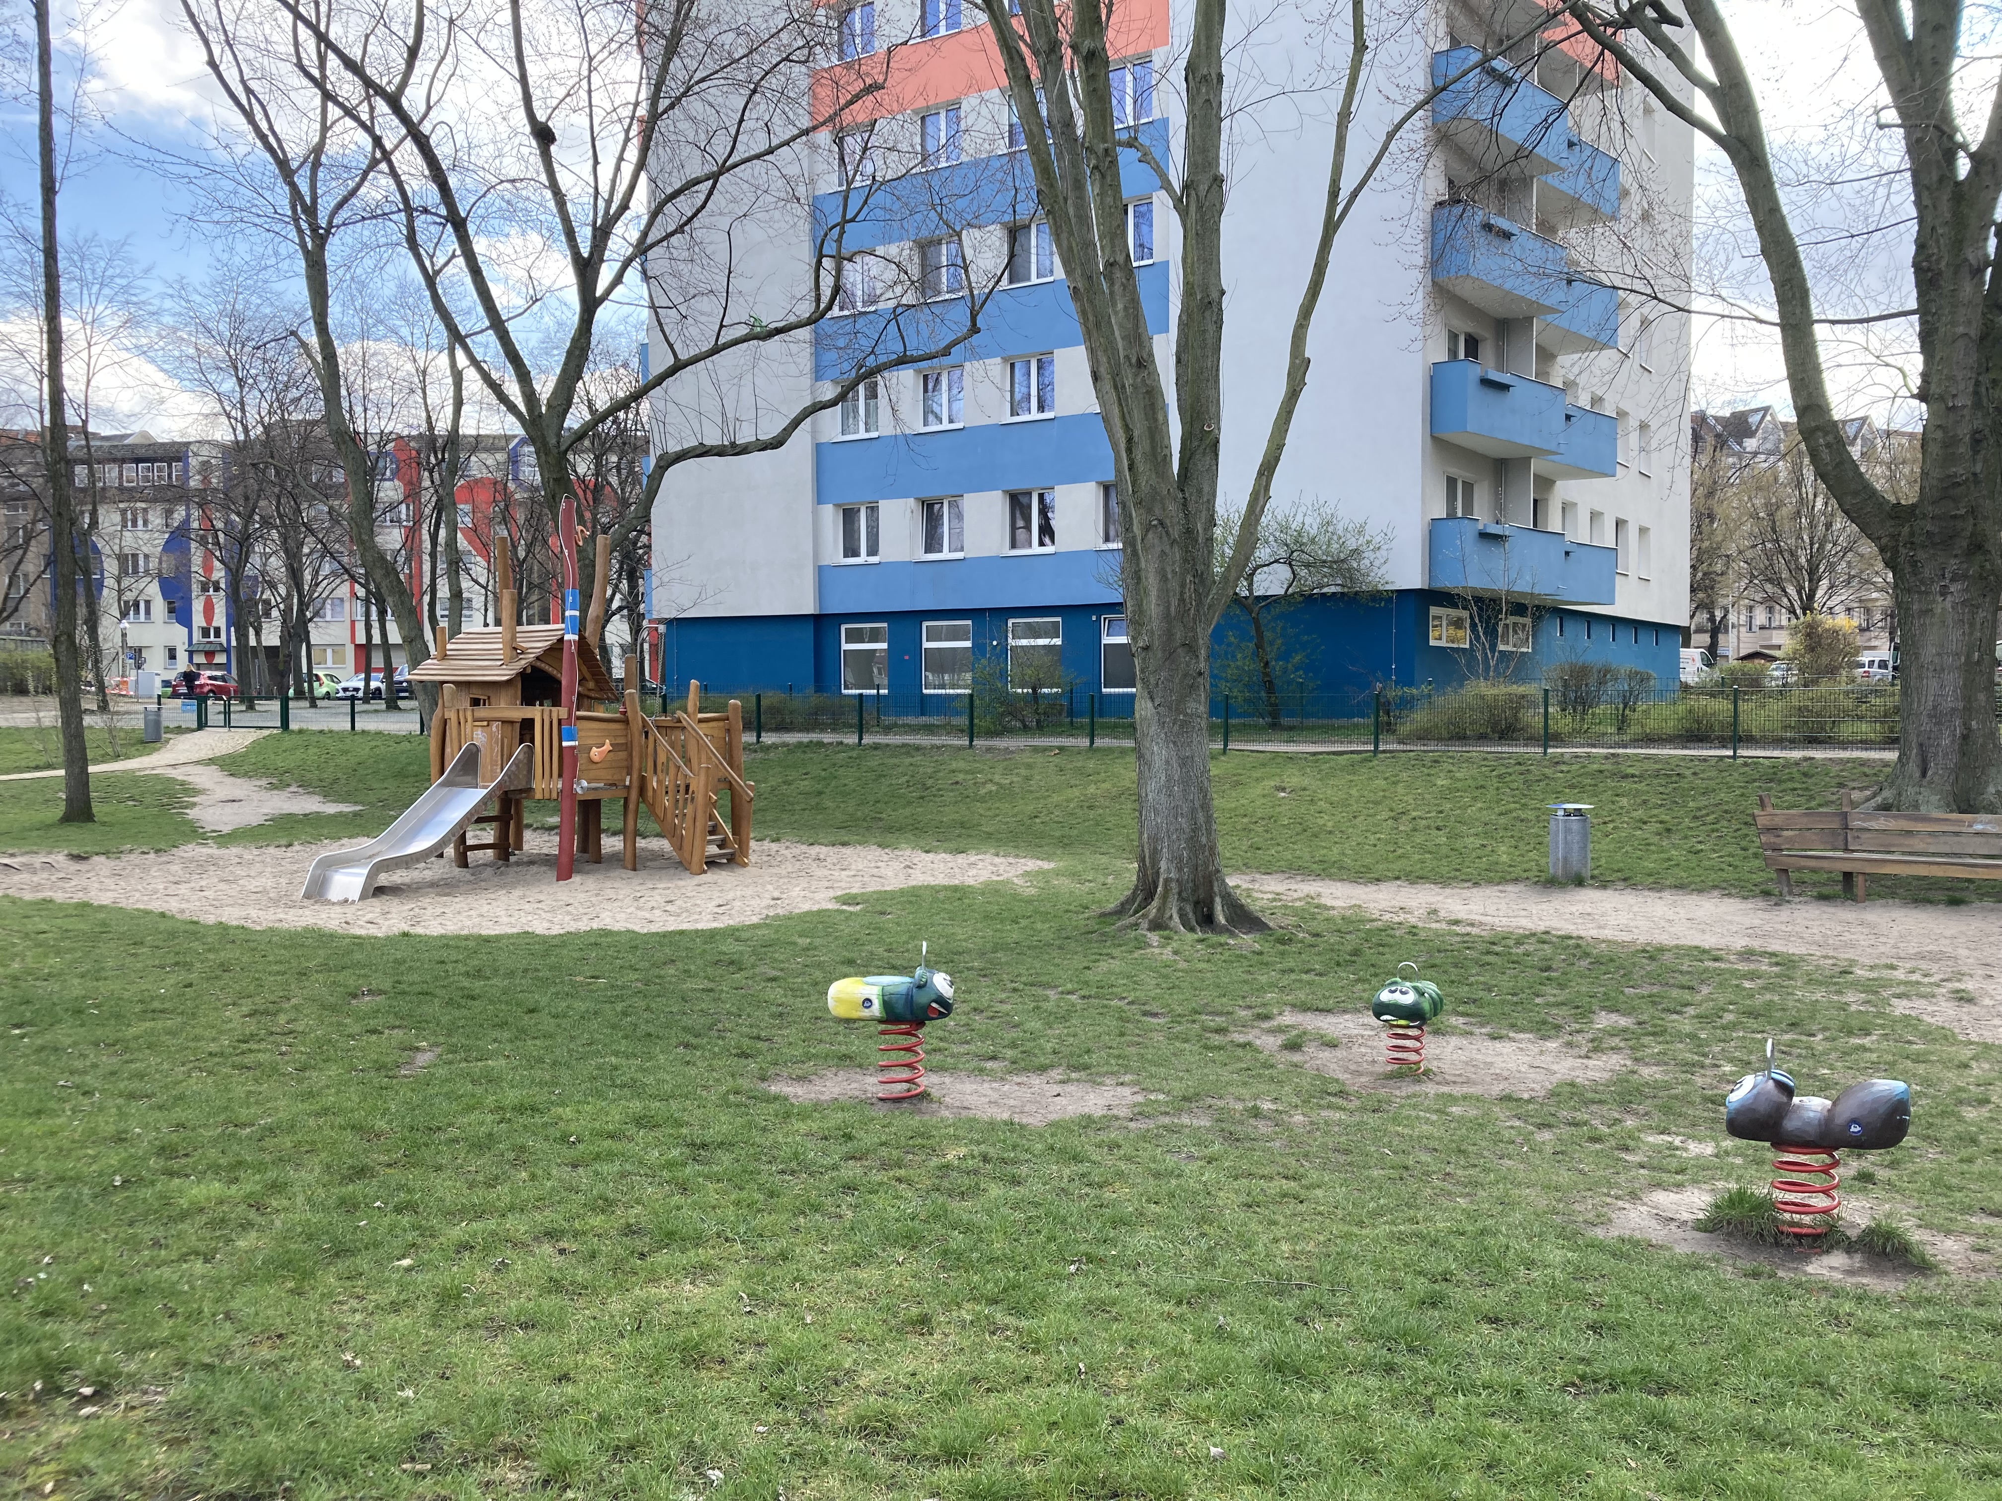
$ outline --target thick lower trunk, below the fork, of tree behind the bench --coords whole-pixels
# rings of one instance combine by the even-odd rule
[[[2002,809],[1996,736],[1996,606],[1986,552],[1904,548],[1898,574],[1898,765],[1874,799],[1886,809]]]

